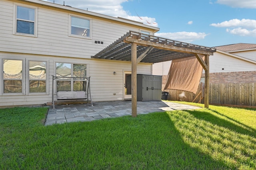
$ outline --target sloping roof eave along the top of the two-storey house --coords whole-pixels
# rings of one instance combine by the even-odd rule
[[[108,20],[112,20],[112,21],[118,21],[118,22],[122,22],[122,23],[126,23],[126,24],[137,25],[137,26],[140,26],[140,27],[152,29],[154,33],[159,31],[158,27],[153,27],[151,25],[145,25],[142,22],[132,21],[132,20],[128,20],[128,19],[124,19],[124,18],[120,18],[120,17],[116,18],[116,17],[112,17],[112,16],[98,14],[96,12],[91,12],[91,11],[88,11],[88,10],[81,10],[81,9],[78,9],[78,8],[73,8],[73,7],[68,6],[68,5],[55,4],[55,3],[47,2],[47,1],[43,1],[43,0],[20,0],[20,1],[30,2],[30,3],[34,3],[34,4],[40,4],[40,5],[43,5],[43,6],[49,6],[49,7],[52,7],[52,8],[58,8],[58,9],[62,9],[62,10],[72,11],[72,12],[79,12],[81,14],[100,17],[100,18],[104,18],[104,19],[108,19]]]

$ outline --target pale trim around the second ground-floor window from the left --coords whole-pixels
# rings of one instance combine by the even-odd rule
[[[29,61],[42,61],[46,62],[46,92],[29,92]],[[27,59],[26,60],[26,95],[45,95],[49,94],[49,60],[42,60],[42,59]]]

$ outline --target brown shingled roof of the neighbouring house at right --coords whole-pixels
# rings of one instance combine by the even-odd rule
[[[256,44],[238,43],[238,44],[218,46],[214,48],[221,51],[225,51],[225,52],[232,52],[232,51],[241,51],[246,49],[256,49]]]

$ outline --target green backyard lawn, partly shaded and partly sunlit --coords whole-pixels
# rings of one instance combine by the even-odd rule
[[[0,169],[256,169],[254,109],[210,106],[44,126],[47,109],[0,109]]]

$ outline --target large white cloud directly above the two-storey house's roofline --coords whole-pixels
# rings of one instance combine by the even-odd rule
[[[45,0],[53,2],[53,0]],[[63,0],[54,0],[55,4],[63,5]],[[122,17],[129,20],[139,21],[146,25],[158,27],[155,18],[147,16],[131,16],[129,11],[125,11],[122,7],[122,3],[128,3],[127,0],[65,0],[65,5],[72,6],[74,8],[88,10],[99,14],[104,14],[113,17]]]

